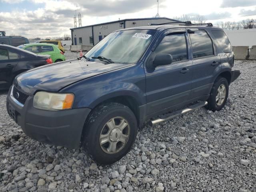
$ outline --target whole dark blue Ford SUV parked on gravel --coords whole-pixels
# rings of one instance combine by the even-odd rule
[[[84,146],[100,164],[132,147],[138,126],[206,106],[221,110],[240,71],[225,32],[212,24],[112,32],[81,58],[20,74],[8,114],[29,137]]]

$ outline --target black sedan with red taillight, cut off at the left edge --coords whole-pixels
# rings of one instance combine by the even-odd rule
[[[0,44],[0,90],[8,89],[18,74],[51,63],[52,59],[49,55],[37,55]]]

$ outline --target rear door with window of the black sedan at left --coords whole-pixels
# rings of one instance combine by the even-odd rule
[[[18,64],[20,55],[7,48],[0,48],[0,89],[12,84],[12,71]]]

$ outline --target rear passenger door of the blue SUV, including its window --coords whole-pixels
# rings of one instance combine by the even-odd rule
[[[208,32],[188,29],[193,57],[193,81],[191,98],[208,95],[213,85],[213,77],[221,70],[220,56]]]

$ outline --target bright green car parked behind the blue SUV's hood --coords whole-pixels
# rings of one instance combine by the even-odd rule
[[[33,52],[35,54],[50,55],[53,63],[66,60],[64,53],[54,44],[30,43],[20,45],[18,48]]]

